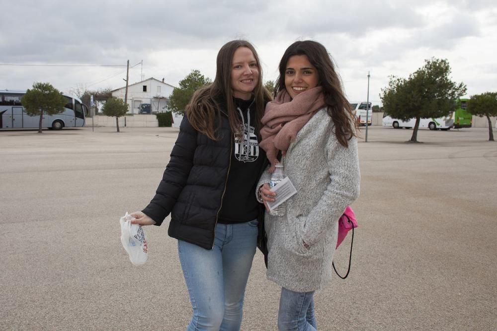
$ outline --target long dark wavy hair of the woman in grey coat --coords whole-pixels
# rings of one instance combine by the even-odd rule
[[[325,104],[328,107],[328,115],[333,119],[336,139],[342,146],[347,147],[348,140],[357,136],[358,126],[357,122],[354,121],[355,116],[350,108],[350,103],[343,93],[341,79],[335,71],[330,54],[323,45],[312,40],[296,41],[286,49],[279,64],[279,77],[274,88],[275,95],[286,89],[286,65],[288,60],[295,55],[307,56],[309,62],[318,70],[318,86],[323,87]]]

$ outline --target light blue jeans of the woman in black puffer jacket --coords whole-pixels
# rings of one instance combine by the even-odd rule
[[[218,223],[212,250],[178,240],[179,261],[193,308],[188,331],[240,330],[257,232],[257,220]]]

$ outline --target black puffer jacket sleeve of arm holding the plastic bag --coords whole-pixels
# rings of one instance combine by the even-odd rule
[[[161,225],[171,212],[176,200],[183,190],[190,170],[193,167],[193,157],[197,148],[197,134],[186,116],[183,117],[179,128],[178,138],[171,151],[169,163],[166,166],[162,181],[159,183],[156,195],[142,211],[150,216],[156,225]]]

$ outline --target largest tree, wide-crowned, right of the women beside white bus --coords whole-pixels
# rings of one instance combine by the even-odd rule
[[[391,76],[388,86],[382,89],[380,96],[388,115],[404,121],[416,119],[409,142],[418,142],[421,118],[448,115],[455,109],[454,101],[466,93],[466,85],[452,81],[450,72],[447,60],[432,58],[424,60],[424,66],[408,79]]]

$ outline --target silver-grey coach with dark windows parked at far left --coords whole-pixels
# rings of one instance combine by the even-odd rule
[[[0,129],[39,128],[40,117],[28,116],[21,105],[26,91],[0,90]],[[62,128],[81,128],[88,109],[77,97],[64,94],[64,111],[57,115],[43,115],[42,127],[61,130]]]

